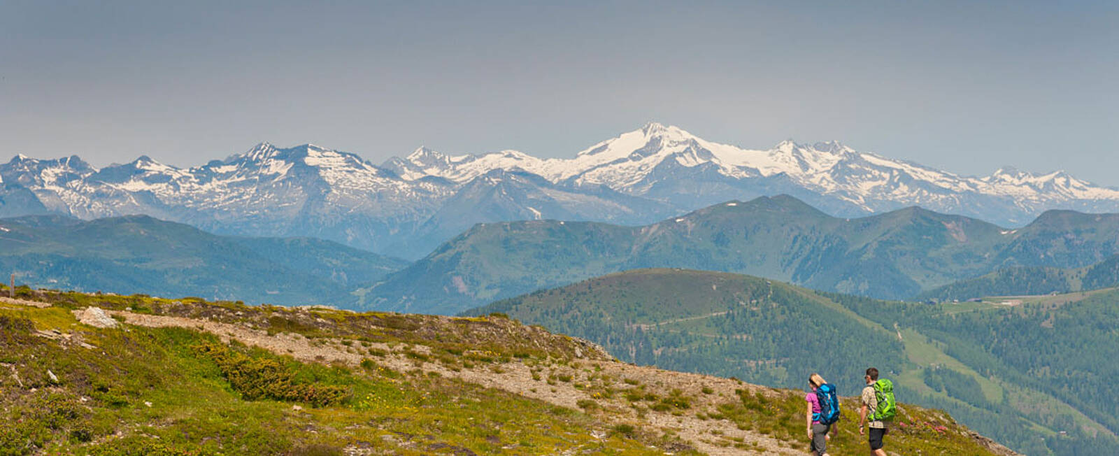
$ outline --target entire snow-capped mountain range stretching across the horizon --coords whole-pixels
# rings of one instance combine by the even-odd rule
[[[963,177],[838,142],[770,150],[650,123],[579,152],[449,155],[420,148],[380,165],[314,144],[267,143],[180,169],[141,156],[0,165],[0,216],[147,213],[218,234],[313,236],[415,258],[477,222],[556,218],[647,224],[704,206],[788,193],[840,217],[922,206],[1004,226],[1047,209],[1119,211],[1119,190],[1064,172]]]

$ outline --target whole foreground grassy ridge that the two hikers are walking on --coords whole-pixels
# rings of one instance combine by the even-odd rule
[[[352,314],[27,289],[20,294],[55,304],[34,308],[0,302],[0,414],[12,424],[0,428],[4,455],[329,455],[341,454],[344,447],[373,454],[687,454],[693,453],[688,443],[661,430],[685,418],[728,425],[780,444],[767,449],[759,446],[761,440],[712,430],[702,438],[717,453],[794,454],[806,445],[800,392],[744,384],[730,392],[720,384],[735,383],[718,379],[708,380],[714,389],[692,391],[698,389],[694,383],[677,388],[669,373],[598,360],[579,341],[500,317]],[[186,327],[100,330],[77,323],[69,312],[91,304],[140,312],[130,315],[196,320],[186,320]],[[337,344],[351,353],[367,351],[368,358],[360,367],[298,361],[223,342],[233,333],[219,338],[196,329],[204,324],[298,333],[310,338],[311,345]],[[385,344],[411,357],[415,369],[386,368],[394,355],[378,353],[377,346]],[[581,363],[573,355],[580,346],[585,360]],[[229,364],[214,350],[247,361]],[[434,374],[435,364],[445,374]],[[528,367],[542,389],[574,386],[596,399],[581,400],[581,410],[574,410],[452,376],[498,376],[518,367]],[[274,380],[284,373],[291,376],[289,381]],[[253,399],[235,381],[261,377],[272,379],[265,384],[293,391],[333,388],[344,395],[316,407],[278,396]],[[612,418],[612,403],[619,402],[637,411],[636,418],[626,418],[627,425]],[[853,405],[848,401],[847,407]],[[659,425],[652,425],[655,418]],[[891,436],[895,452],[995,454],[938,411],[904,406],[900,422],[904,426]],[[841,427],[831,444],[837,454],[865,445],[854,426]]]

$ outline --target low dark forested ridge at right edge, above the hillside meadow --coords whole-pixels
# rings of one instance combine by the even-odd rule
[[[1043,295],[1119,286],[1119,256],[1080,268],[1021,266],[953,282],[918,295],[918,300],[968,301],[985,296]]]

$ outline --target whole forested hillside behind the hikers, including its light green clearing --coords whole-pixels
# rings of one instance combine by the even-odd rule
[[[586,338],[623,361],[774,387],[802,388],[821,372],[855,395],[863,370],[875,365],[897,382],[901,400],[943,408],[1031,455],[1073,455],[1119,445],[1119,410],[1088,399],[1117,373],[1119,335],[1106,323],[1119,316],[1110,315],[1117,301],[1119,292],[1101,292],[1017,307],[929,305],[638,269],[470,313],[501,312]]]

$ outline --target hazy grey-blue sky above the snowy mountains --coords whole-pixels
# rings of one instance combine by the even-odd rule
[[[0,158],[573,156],[647,122],[1119,186],[1119,2],[0,1]]]

